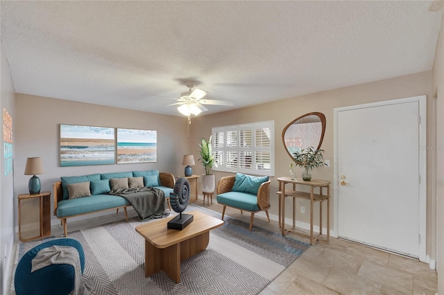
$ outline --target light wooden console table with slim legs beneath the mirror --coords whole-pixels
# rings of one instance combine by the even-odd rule
[[[279,191],[277,192],[279,196],[279,227],[282,230],[282,235],[286,232],[294,232],[298,235],[305,235],[310,238],[310,244],[314,244],[316,241],[329,242],[330,240],[330,181],[311,179],[311,181],[305,181],[302,179],[290,179],[290,177],[278,177]],[[285,185],[291,184],[291,189],[286,190]],[[296,190],[296,186],[309,186],[310,193],[305,193]],[[314,193],[314,190],[318,188],[319,193]],[[327,192],[325,193],[326,189]],[[285,229],[285,198],[293,197],[293,228]],[[310,200],[310,234],[306,235],[298,230],[296,230],[296,198],[309,199]],[[322,235],[322,205],[323,202],[327,201],[327,239],[321,240]],[[319,202],[319,235],[314,236],[313,234],[313,211],[314,203]]]

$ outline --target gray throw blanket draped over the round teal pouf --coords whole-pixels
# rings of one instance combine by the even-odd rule
[[[49,265],[71,265],[74,267],[74,290],[73,295],[89,295],[92,292],[85,280],[83,280],[80,267],[80,257],[76,248],[71,246],[51,246],[38,251],[33,258],[31,272],[37,271]]]

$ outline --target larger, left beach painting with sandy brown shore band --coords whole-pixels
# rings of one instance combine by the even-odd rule
[[[115,129],[60,124],[60,166],[114,164]]]

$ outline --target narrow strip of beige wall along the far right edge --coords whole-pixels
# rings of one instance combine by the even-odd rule
[[[444,16],[436,47],[432,91],[436,96],[436,271],[438,294],[444,294]]]

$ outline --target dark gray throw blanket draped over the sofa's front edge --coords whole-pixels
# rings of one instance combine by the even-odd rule
[[[139,215],[139,220],[167,217],[169,213],[165,212],[165,194],[159,188],[126,188],[111,190],[110,195],[124,197],[130,202],[134,210]]]

